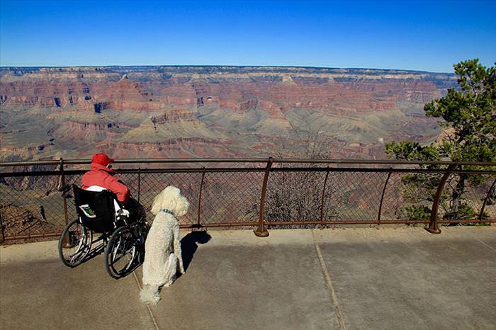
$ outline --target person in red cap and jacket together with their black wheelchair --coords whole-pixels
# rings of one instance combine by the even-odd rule
[[[108,275],[122,278],[142,263],[150,226],[142,205],[113,176],[112,162],[106,154],[95,154],[91,171],[82,178],[82,188],[72,186],[78,217],[60,234],[58,249],[60,260],[68,267],[103,251]]]

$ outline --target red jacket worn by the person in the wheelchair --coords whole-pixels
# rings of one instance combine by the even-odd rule
[[[121,203],[128,203],[130,196],[128,187],[120,182],[118,178],[114,178],[113,174],[115,174],[115,172],[106,168],[106,166],[91,163],[91,171],[84,173],[84,176],[81,179],[83,189],[87,189],[90,186],[100,186],[115,193],[117,199]]]

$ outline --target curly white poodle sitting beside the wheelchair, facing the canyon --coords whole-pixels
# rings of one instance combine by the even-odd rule
[[[185,215],[188,207],[188,200],[181,195],[181,190],[173,186],[162,190],[153,200],[155,219],[145,242],[142,302],[157,305],[159,287],[169,287],[176,279],[178,268],[184,273],[176,217]]]

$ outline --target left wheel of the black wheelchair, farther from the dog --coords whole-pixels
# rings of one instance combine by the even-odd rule
[[[59,239],[59,257],[67,267],[76,267],[84,261],[91,249],[91,231],[79,219],[72,220],[64,228]]]

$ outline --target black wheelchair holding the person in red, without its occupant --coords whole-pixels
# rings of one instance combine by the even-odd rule
[[[83,190],[75,185],[74,204],[78,217],[69,222],[59,239],[59,256],[74,268],[103,251],[108,275],[118,279],[142,263],[145,239],[150,226],[145,210],[130,215],[114,193]]]

